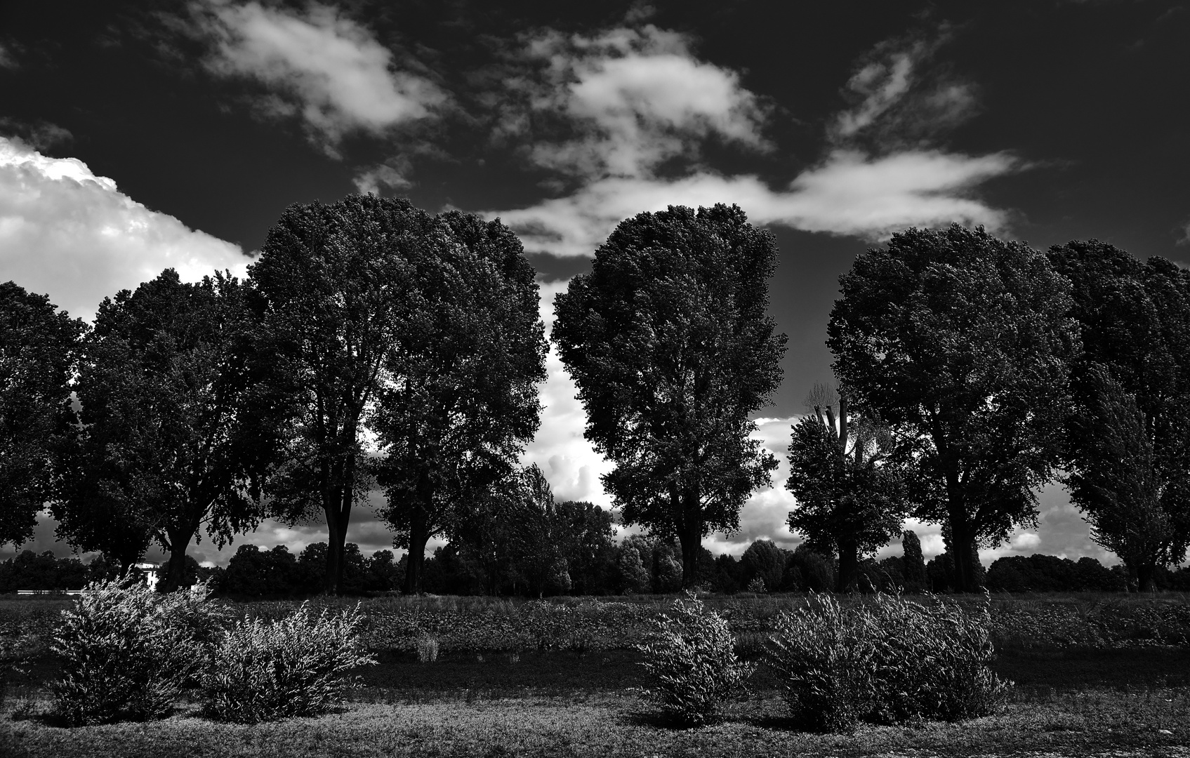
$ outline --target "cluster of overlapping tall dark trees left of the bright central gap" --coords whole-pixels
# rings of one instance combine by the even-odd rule
[[[293,206],[239,282],[164,271],[93,328],[15,284],[4,299],[4,541],[49,501],[58,534],[125,566],[267,515],[325,518],[327,591],[378,482],[418,589],[430,537],[511,477],[538,426],[533,269],[499,221],[403,200]],[[370,443],[370,444],[369,444]]]

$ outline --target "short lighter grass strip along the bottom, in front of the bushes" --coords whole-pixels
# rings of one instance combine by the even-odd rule
[[[148,723],[65,729],[38,718],[0,720],[12,758],[95,756],[1190,756],[1190,693],[1065,693],[1023,697],[965,723],[862,726],[803,732],[766,694],[727,709],[715,726],[658,723],[634,691],[522,699],[384,702],[365,690],[337,713],[251,727],[182,708]],[[39,703],[48,706],[49,703]]]

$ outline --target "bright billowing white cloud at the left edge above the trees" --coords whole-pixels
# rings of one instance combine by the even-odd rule
[[[105,296],[162,269],[195,281],[215,269],[243,276],[246,264],[237,245],[150,211],[82,161],[0,137],[0,281],[90,320]]]

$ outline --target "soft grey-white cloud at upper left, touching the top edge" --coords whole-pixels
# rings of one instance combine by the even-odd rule
[[[432,117],[446,101],[427,76],[399,69],[392,51],[336,8],[305,13],[207,0],[195,6],[201,31],[215,40],[208,67],[263,83],[269,115],[298,117],[334,151],[349,132],[381,134]]]

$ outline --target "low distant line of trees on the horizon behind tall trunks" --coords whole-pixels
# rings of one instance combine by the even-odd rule
[[[912,535],[912,537],[910,537]],[[913,532],[907,539],[916,539]],[[344,589],[346,595],[381,595],[400,591],[407,558],[399,560],[389,550],[364,557],[359,546],[344,546]],[[756,540],[741,557],[724,553],[699,556],[699,587],[726,595],[737,593],[827,591],[835,585],[838,560],[802,545],[787,550],[770,540]],[[83,564],[77,558],[56,558],[51,552],[23,551],[0,563],[0,593],[18,589],[81,589],[88,582],[112,578],[119,570],[102,556]],[[296,556],[284,545],[265,550],[240,545],[226,568],[200,566],[188,560],[183,585],[207,581],[220,595],[239,599],[301,597],[321,591],[325,583],[326,543],[307,545]],[[944,555],[928,563],[908,556],[882,560],[866,558],[858,566],[863,593],[950,593],[954,590],[954,565]],[[453,545],[438,547],[425,562],[425,589],[437,595],[490,594],[490,576],[476,557]],[[1104,566],[1095,558],[1006,556],[988,568],[984,583],[992,593],[1122,593],[1128,589],[1123,564]],[[501,595],[632,595],[665,594],[682,585],[681,551],[677,545],[631,535],[619,545],[608,541],[580,572],[555,577],[534,594],[524,568],[509,564],[497,578]],[[1190,568],[1160,569],[1158,590],[1190,591]]]

